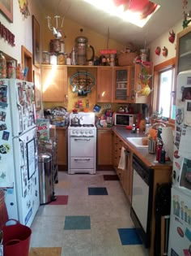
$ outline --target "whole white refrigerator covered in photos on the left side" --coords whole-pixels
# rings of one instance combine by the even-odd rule
[[[31,82],[0,79],[0,188],[9,219],[30,227],[40,205]]]

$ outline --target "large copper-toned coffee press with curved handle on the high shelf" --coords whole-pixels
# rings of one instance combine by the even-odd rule
[[[82,32],[82,29],[80,30]],[[77,53],[77,65],[87,65],[87,62],[94,61],[95,51],[93,46],[87,44],[87,37],[76,37],[75,49]],[[87,48],[91,48],[91,59],[87,59]]]

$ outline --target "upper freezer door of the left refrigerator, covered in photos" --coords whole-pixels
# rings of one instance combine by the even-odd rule
[[[36,126],[34,84],[22,80],[8,80],[11,103],[12,136],[16,137]]]

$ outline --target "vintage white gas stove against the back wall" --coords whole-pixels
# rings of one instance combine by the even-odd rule
[[[96,125],[93,112],[70,114],[68,173],[96,173]]]

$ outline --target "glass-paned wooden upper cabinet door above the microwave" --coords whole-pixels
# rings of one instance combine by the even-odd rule
[[[129,102],[130,67],[114,67],[112,102]]]

